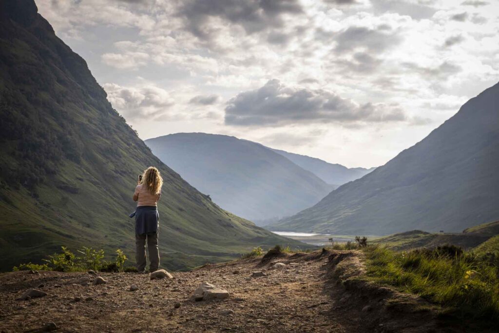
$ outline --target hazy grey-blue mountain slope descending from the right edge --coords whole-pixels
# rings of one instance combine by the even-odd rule
[[[499,219],[499,84],[384,166],[275,230],[386,235],[460,231]]]

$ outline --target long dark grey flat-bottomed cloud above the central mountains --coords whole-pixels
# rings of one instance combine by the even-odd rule
[[[269,80],[259,89],[239,93],[225,108],[228,125],[354,123],[408,120],[398,105],[357,103],[323,89],[286,87]]]

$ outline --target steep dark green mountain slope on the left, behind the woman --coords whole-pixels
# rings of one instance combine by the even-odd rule
[[[0,270],[61,245],[122,248],[133,258],[131,197],[150,165],[165,180],[163,266],[298,244],[220,209],[156,158],[33,0],[1,0],[0,19]]]

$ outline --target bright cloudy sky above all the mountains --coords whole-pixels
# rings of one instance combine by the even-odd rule
[[[36,0],[142,139],[385,164],[499,81],[499,0]]]

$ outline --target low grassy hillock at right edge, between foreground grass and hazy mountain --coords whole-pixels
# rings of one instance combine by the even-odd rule
[[[434,248],[453,244],[464,249],[493,247],[495,235],[499,234],[499,221],[484,223],[465,229],[462,233],[428,233],[421,230],[407,231],[370,241],[372,244],[386,245],[397,251],[415,248]],[[490,243],[489,243],[490,242]],[[489,245],[485,245],[489,244]],[[487,251],[485,251],[487,252]]]

